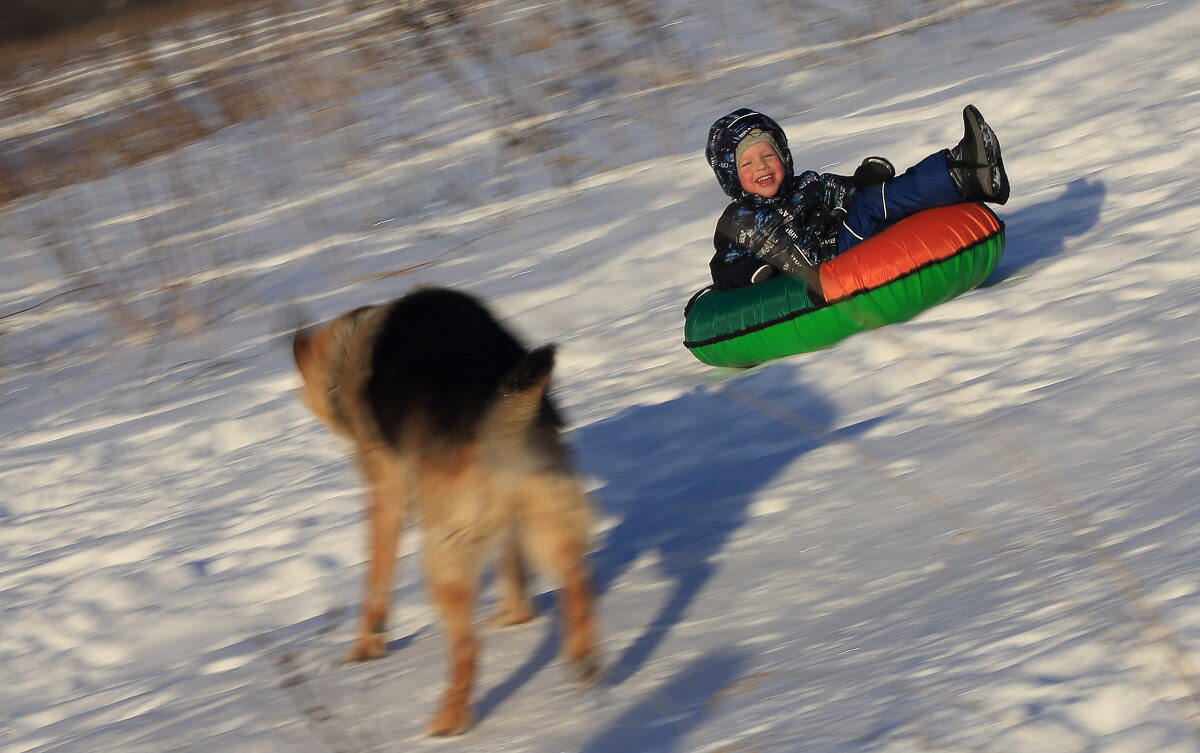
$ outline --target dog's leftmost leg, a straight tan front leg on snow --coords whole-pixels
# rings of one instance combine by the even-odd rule
[[[388,608],[396,570],[396,543],[404,523],[404,490],[400,471],[383,459],[364,458],[367,493],[367,572],[354,645],[347,662],[379,658],[388,652]]]

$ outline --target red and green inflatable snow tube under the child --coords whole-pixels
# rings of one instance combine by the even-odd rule
[[[698,293],[684,312],[684,347],[734,367],[828,348],[971,290],[1003,251],[1004,223],[983,204],[924,210],[822,264],[824,303],[785,276]]]

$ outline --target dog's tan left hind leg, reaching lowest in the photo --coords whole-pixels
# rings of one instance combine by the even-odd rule
[[[479,653],[470,624],[481,546],[439,534],[436,529],[427,531],[425,572],[430,595],[442,613],[450,677],[442,705],[430,719],[426,731],[445,736],[457,735],[470,725],[470,691]]]

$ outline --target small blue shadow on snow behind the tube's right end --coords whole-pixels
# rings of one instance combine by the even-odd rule
[[[1004,254],[982,288],[1016,282],[1032,275],[1042,264],[1061,255],[1067,239],[1087,233],[1100,219],[1100,207],[1108,193],[1099,180],[1080,177],[1067,183],[1062,194],[1050,201],[1004,215]]]

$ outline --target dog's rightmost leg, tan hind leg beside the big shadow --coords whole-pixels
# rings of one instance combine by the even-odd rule
[[[557,577],[563,620],[563,655],[581,683],[600,675],[587,565],[589,506],[574,478],[551,477],[529,488],[526,546],[539,567]]]

